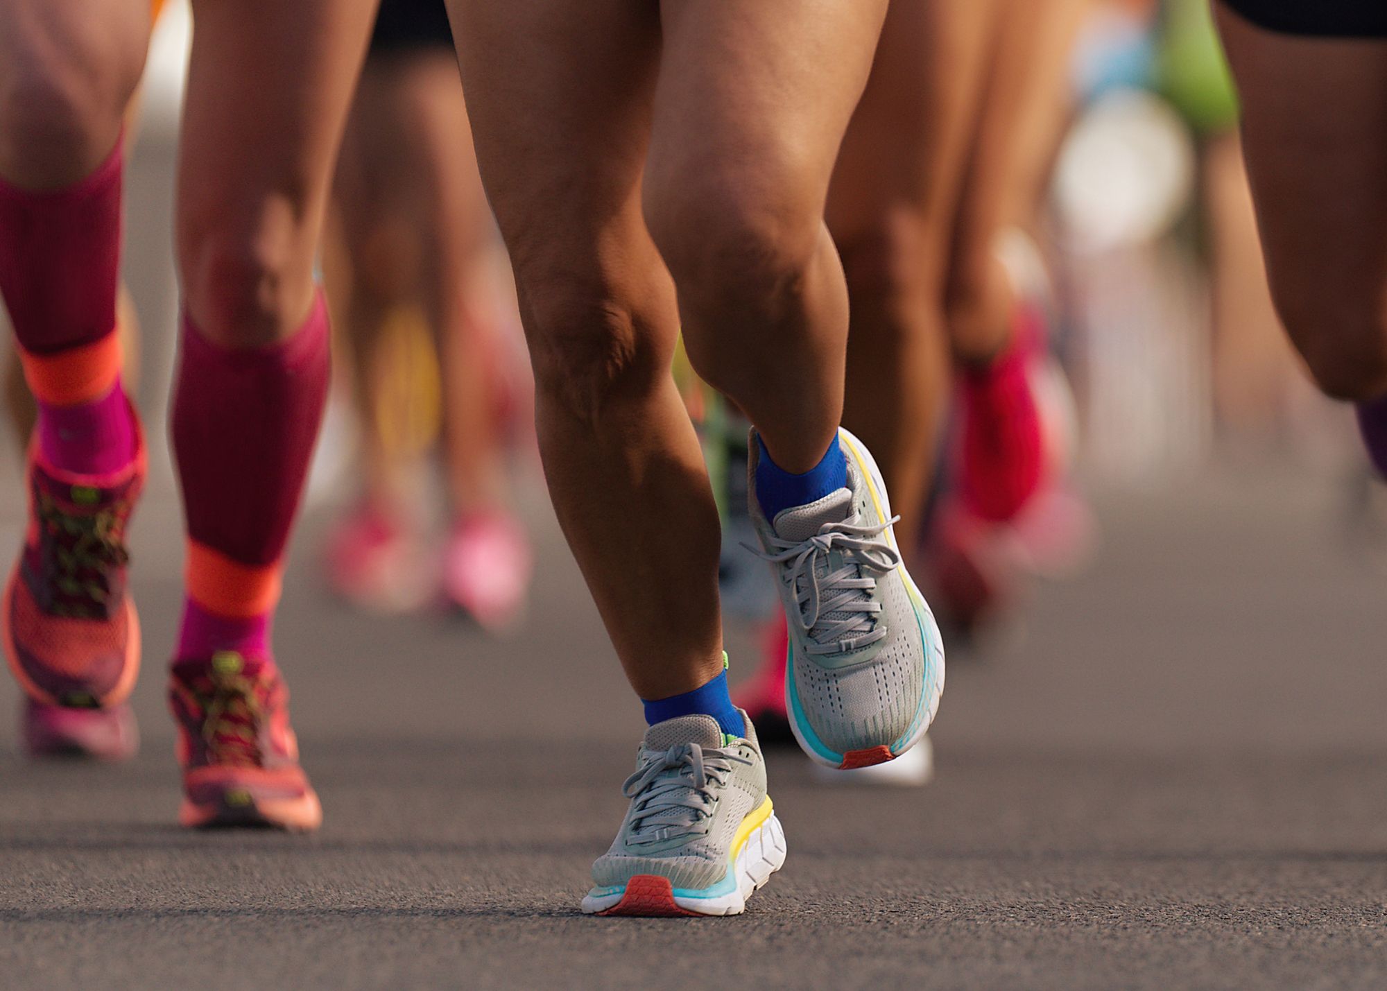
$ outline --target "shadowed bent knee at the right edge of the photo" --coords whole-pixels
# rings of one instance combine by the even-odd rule
[[[1277,312],[1320,391],[1362,401],[1387,389],[1387,305],[1375,294],[1275,291]]]

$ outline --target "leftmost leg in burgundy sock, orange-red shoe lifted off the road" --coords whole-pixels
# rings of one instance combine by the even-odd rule
[[[123,532],[143,458],[115,312],[119,136],[148,19],[144,0],[0,0],[0,296],[37,400],[4,647],[36,754],[135,748]]]

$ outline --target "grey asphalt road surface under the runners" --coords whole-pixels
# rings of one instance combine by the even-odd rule
[[[578,915],[641,719],[544,514],[499,643],[333,604],[311,520],[279,645],[326,824],[178,830],[155,498],[141,756],[26,763],[0,686],[0,987],[1384,987],[1387,576],[1338,498],[1261,471],[1101,505],[1090,573],[950,655],[933,784],[773,758],[789,859],[727,920]]]

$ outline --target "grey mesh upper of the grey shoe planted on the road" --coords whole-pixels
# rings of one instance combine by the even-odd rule
[[[646,730],[631,799],[612,848],[592,880],[620,886],[637,874],[669,877],[675,888],[706,888],[728,869],[738,827],[766,801],[766,762],[756,730],[724,740],[712,716],[680,716]]]

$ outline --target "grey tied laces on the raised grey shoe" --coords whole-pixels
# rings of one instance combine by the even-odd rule
[[[799,605],[795,619],[810,643],[809,654],[839,654],[874,644],[886,636],[877,627],[877,613],[881,602],[872,601],[877,579],[865,572],[885,575],[900,566],[900,554],[885,540],[872,540],[886,532],[900,516],[892,516],[879,526],[857,526],[854,523],[824,523],[809,540],[795,541],[766,536],[770,552],[750,544],[742,544],[761,561],[770,561],[784,569],[784,575],[795,588]],[[843,566],[827,572],[828,554],[838,548],[843,554]],[[818,566],[825,575],[820,577]],[[832,613],[847,613],[845,619],[821,622]]]

